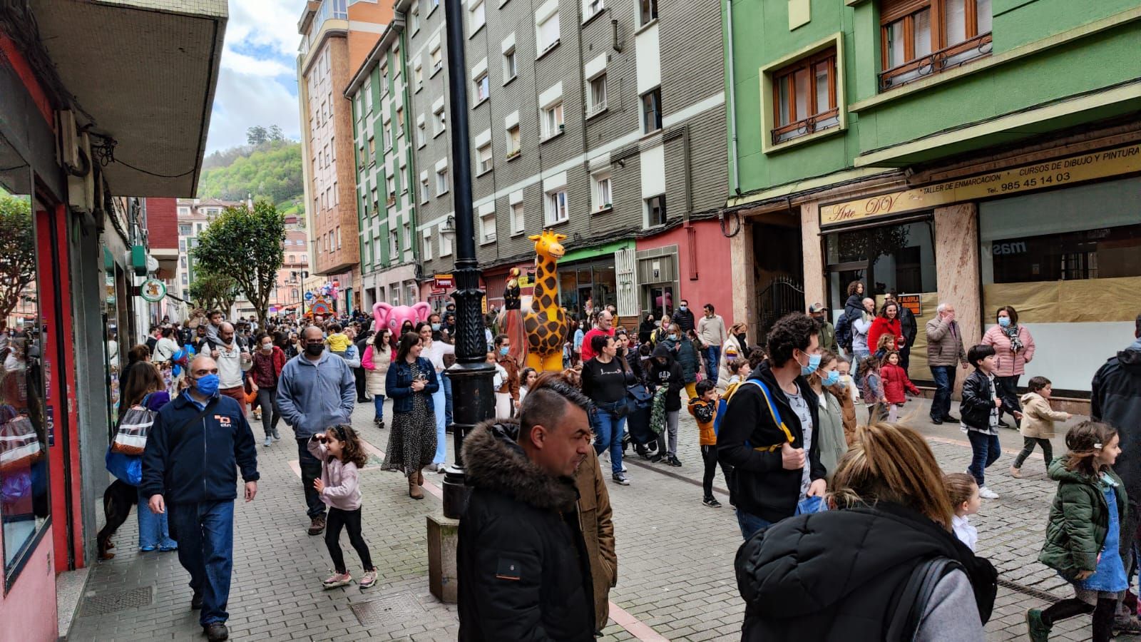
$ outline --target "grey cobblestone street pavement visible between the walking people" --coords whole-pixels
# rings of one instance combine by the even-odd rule
[[[965,470],[970,463],[965,435],[952,426],[917,422],[916,416],[926,417],[926,402],[913,403],[916,407],[909,408],[905,420],[929,436],[944,470]],[[372,412],[371,404],[359,406],[354,425],[374,448],[385,450],[388,431],[372,425]],[[260,423],[254,426],[258,433]],[[412,500],[402,476],[380,471],[379,460],[377,467],[366,468],[362,474],[365,539],[381,580],[365,591],[356,585],[324,591],[321,580],[331,562],[323,538],[306,533],[308,520],[294,472],[297,446],[284,426],[282,434],[285,439],[269,448],[260,446],[259,436],[258,497],[235,507],[232,637],[454,640],[455,608],[437,602],[428,592],[426,516],[440,512],[437,497],[426,493],[423,500]],[[1053,495],[1041,455],[1035,454],[1023,466],[1023,479],[1015,480],[1008,470],[1021,439],[1014,431],[1003,431],[1001,440],[1008,452],[987,472],[987,484],[1001,498],[985,501],[973,519],[980,554],[995,563],[1008,583],[1000,586],[986,627],[987,640],[993,641],[1025,639],[1027,608],[1046,605],[1044,596],[1070,596],[1066,583],[1036,561]],[[1063,452],[1060,441],[1055,443],[1059,454]],[[631,485],[609,485],[618,548],[618,585],[610,601],[669,640],[739,639],[744,605],[733,560],[741,535],[720,472],[715,483],[726,506],[709,508],[701,503],[697,430],[685,414],[678,456],[683,463],[680,468],[631,457]],[[436,484],[443,481],[435,474],[426,479]],[[116,557],[90,572],[67,639],[201,640],[197,612],[189,609],[188,576],[177,555],[139,553],[133,516],[115,541]],[[347,538],[342,545],[349,571],[359,577],[359,560]],[[608,641],[636,639],[613,619],[604,633]],[[1087,640],[1089,620],[1060,623],[1054,634],[1060,640]]]

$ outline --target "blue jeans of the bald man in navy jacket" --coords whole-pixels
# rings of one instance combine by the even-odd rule
[[[167,504],[178,537],[178,561],[202,595],[202,626],[226,621],[229,576],[234,568],[234,500]]]

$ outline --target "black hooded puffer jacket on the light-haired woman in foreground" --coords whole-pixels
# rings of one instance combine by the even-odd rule
[[[962,564],[970,588],[963,586],[963,570],[944,576],[934,595],[948,601],[923,608],[925,615],[939,612],[940,617],[924,618],[915,639],[982,640],[982,624],[990,616],[997,589],[994,567],[944,527],[885,501],[796,515],[745,541],[735,563],[737,589],[745,601],[742,640],[904,639],[900,615],[906,616],[915,597],[904,591],[905,584],[916,567],[934,557]],[[955,595],[956,591],[942,588],[944,583],[968,594]],[[952,602],[952,596],[962,599]],[[962,634],[924,629],[932,621],[948,619]]]

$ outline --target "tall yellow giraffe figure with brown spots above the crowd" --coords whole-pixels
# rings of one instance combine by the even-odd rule
[[[535,291],[531,310],[523,316],[523,327],[527,332],[527,367],[540,372],[563,371],[567,319],[559,306],[556,264],[565,251],[559,241],[566,238],[566,234],[557,234],[550,230],[528,236],[535,241]]]

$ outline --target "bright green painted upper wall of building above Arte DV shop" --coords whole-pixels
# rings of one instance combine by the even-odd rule
[[[769,133],[762,131],[761,109],[771,109],[761,105],[760,70],[766,65],[841,32],[847,103],[879,94],[879,1],[850,7],[844,0],[811,0],[810,22],[793,31],[787,0],[723,1],[733,2],[733,24],[727,29],[734,34],[742,193],[849,169],[856,157],[869,151],[1141,78],[1141,19],[1131,19],[859,113],[848,112],[845,131],[766,154],[761,143]],[[1139,8],[1141,0],[993,0],[992,56]],[[892,91],[900,89],[884,95]]]

